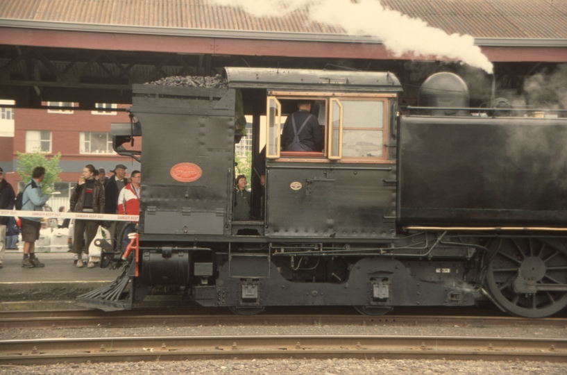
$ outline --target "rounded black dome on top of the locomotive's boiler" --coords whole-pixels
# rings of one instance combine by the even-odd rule
[[[457,74],[442,72],[430,76],[418,92],[418,106],[468,108],[469,96],[465,81]],[[431,110],[434,116],[466,116],[467,110]]]

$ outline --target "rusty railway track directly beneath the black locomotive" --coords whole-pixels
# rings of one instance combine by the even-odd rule
[[[203,313],[201,310],[196,310]],[[215,325],[392,325],[392,326],[545,326],[567,327],[566,318],[423,316],[423,315],[189,315],[190,312],[155,310],[104,313],[97,310],[27,310],[0,312],[0,328],[83,328]]]

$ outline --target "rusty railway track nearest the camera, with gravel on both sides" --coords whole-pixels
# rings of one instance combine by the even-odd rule
[[[567,362],[567,339],[264,335],[0,341],[0,365],[139,360],[389,358]]]

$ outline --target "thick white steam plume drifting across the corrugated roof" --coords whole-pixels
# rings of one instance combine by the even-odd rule
[[[220,6],[239,7],[255,17],[281,17],[307,10],[320,24],[340,26],[349,35],[372,35],[396,56],[412,53],[462,62],[492,73],[492,64],[470,35],[447,34],[421,19],[384,8],[378,0],[209,0]]]

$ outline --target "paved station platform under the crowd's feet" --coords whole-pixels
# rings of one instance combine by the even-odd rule
[[[91,269],[86,264],[77,268],[73,253],[36,255],[45,267],[24,268],[21,252],[6,251],[3,268],[0,269],[0,310],[40,301],[42,304],[46,301],[69,304],[76,296],[114,281],[121,272],[119,269],[102,269],[98,265]]]

